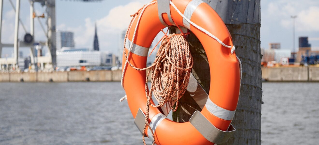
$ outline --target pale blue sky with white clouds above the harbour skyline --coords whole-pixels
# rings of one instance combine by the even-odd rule
[[[15,4],[15,0],[12,0]],[[97,25],[101,51],[119,54],[122,47],[121,33],[127,29],[130,15],[151,0],[104,0],[84,3],[76,0],[56,0],[56,28],[74,32],[76,47],[92,49],[94,23]],[[30,31],[29,3],[21,0],[20,19]],[[2,43],[13,43],[14,17],[9,0],[4,1]],[[40,4],[35,4],[38,15],[45,12]],[[319,1],[318,0],[261,0],[261,47],[268,48],[268,43],[280,42],[281,49],[292,49],[292,15],[295,19],[295,47],[298,50],[298,37],[308,36],[312,47],[319,49]],[[45,19],[40,20],[45,25]],[[45,40],[45,35],[38,23],[35,24],[35,40]],[[25,34],[19,26],[19,39]],[[21,48],[25,55],[28,49]],[[11,55],[13,48],[4,48],[5,54]]]

